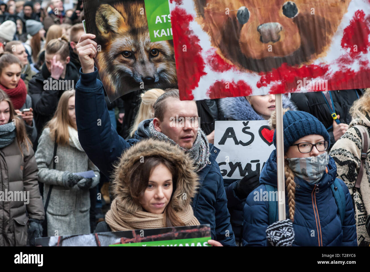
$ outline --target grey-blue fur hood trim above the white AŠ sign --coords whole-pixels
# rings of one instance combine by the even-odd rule
[[[244,96],[222,98],[220,99],[220,108],[225,118],[229,120],[265,120],[253,109]],[[297,110],[294,103],[285,95],[283,95],[283,108],[290,108],[293,111]]]

